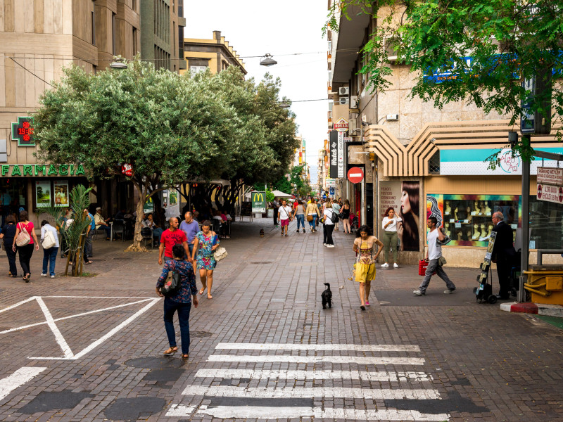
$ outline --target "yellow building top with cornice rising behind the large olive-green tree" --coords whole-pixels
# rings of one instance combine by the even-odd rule
[[[213,31],[212,39],[184,38],[184,58],[189,72],[209,69],[215,74],[229,66],[238,66],[243,75],[247,73],[243,60],[229,45],[229,41],[225,41],[221,31]],[[180,74],[184,72],[182,70]]]

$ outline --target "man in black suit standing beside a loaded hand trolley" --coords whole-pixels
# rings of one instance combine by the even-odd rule
[[[503,220],[505,216],[502,212],[497,211],[493,213],[493,231],[496,232],[495,244],[493,252],[491,253],[491,260],[497,264],[498,283],[500,289],[497,298],[508,299],[510,298],[510,271],[512,270],[512,263],[514,261],[514,237],[512,228]]]

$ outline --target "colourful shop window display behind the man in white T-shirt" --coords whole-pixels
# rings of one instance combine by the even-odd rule
[[[493,231],[491,217],[500,211],[505,222],[521,226],[518,195],[442,195],[426,196],[426,216],[431,215],[452,239],[450,245],[486,247]]]

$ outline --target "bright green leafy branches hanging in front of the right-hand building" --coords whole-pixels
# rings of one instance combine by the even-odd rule
[[[561,0],[336,0],[324,30],[338,30],[340,13],[372,15],[377,25],[363,48],[361,70],[372,91],[390,87],[388,53],[394,50],[397,65],[410,65],[412,96],[437,108],[468,101],[486,113],[507,115],[514,124],[530,94],[520,80],[546,72],[562,75],[562,8]],[[437,79],[438,73],[448,76]],[[549,110],[545,105],[551,99]],[[562,105],[557,82],[552,93],[533,98],[531,110],[554,125],[562,120]],[[520,143],[516,150],[531,158],[529,146]]]

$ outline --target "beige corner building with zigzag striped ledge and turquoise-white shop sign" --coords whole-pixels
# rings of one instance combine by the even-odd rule
[[[381,237],[381,222],[388,207],[394,207],[405,220],[400,262],[415,264],[424,257],[426,218],[430,215],[452,238],[443,247],[450,265],[479,266],[495,211],[501,211],[514,229],[517,250],[521,247],[522,219],[529,219],[531,262],[538,248],[561,248],[563,205],[536,197],[537,167],[556,167],[557,162],[536,160],[531,164],[530,213],[523,215],[521,160],[505,148],[508,132],[519,132],[519,127],[510,126],[503,115],[484,113],[464,101],[438,110],[431,103],[410,98],[415,83],[410,69],[395,65],[392,56],[391,87],[383,93],[371,93],[365,75],[360,73],[365,64],[360,50],[368,34],[374,32],[377,20],[353,10],[348,15],[351,20],[340,19],[339,33],[331,34],[329,45],[329,96],[334,99],[329,129],[340,118],[350,122],[346,168],[362,167],[365,184],[345,180],[343,191],[353,207],[365,213],[364,221]],[[533,136],[532,146],[563,153],[555,131]],[[499,165],[491,170],[486,159],[498,151]],[[370,205],[374,210],[371,217]],[[561,258],[552,255],[548,260]]]

